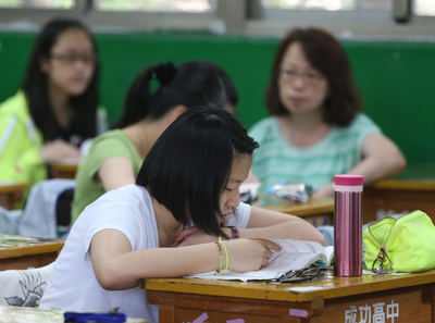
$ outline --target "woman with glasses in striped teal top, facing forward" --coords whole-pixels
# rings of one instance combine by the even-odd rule
[[[336,174],[363,175],[368,185],[406,165],[399,148],[362,113],[346,52],[322,29],[298,28],[283,39],[266,104],[271,116],[249,129],[260,144],[252,165],[260,192],[293,181],[312,185],[314,197],[331,197]]]

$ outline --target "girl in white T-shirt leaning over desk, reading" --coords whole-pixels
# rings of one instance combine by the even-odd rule
[[[158,307],[147,302],[141,278],[258,270],[279,248],[260,237],[325,245],[304,220],[240,202],[257,147],[222,109],[182,114],[151,148],[136,185],[104,194],[77,219],[40,308],[120,308],[157,323]],[[228,239],[233,234],[240,238]]]

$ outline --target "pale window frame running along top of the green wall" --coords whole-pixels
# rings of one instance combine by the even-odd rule
[[[37,30],[47,20],[65,15],[79,17],[94,32],[101,33],[167,30],[283,37],[294,27],[315,25],[351,39],[435,39],[435,17],[432,16],[412,16],[408,23],[397,23],[390,12],[263,10],[260,1],[219,0],[215,13],[185,13],[103,12],[89,9],[89,0],[76,0],[71,10],[2,9],[0,29]]]

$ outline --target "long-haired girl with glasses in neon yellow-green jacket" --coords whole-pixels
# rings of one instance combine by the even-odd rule
[[[97,112],[98,72],[84,24],[55,18],[44,26],[21,89],[0,105],[0,181],[30,189],[48,177],[48,163],[82,158],[80,144],[105,124],[105,113]]]

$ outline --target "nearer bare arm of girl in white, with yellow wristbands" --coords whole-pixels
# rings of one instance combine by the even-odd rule
[[[224,244],[228,252],[228,269],[239,272],[260,269],[271,258],[271,250],[281,249],[272,241],[258,239],[237,239]],[[89,253],[99,284],[109,290],[137,287],[141,278],[179,277],[220,268],[216,244],[132,251],[128,238],[116,229],[98,232],[92,238]]]

